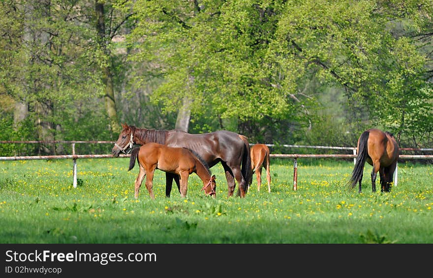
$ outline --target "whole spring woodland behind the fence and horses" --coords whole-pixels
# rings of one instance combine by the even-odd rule
[[[432,16],[433,0],[1,0],[0,140],[116,140],[125,122],[432,147]]]

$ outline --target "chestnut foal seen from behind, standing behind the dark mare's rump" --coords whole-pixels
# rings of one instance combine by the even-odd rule
[[[266,169],[266,180],[268,181],[268,192],[271,193],[271,172],[269,147],[265,144],[254,144],[251,147],[251,169],[255,172],[257,179],[257,191],[260,191],[262,184],[262,168]],[[252,179],[250,183],[252,183]]]

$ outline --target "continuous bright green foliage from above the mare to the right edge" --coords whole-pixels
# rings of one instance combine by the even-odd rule
[[[407,23],[403,28],[413,32],[427,26],[424,12],[429,7],[417,11],[411,3],[401,11],[399,5],[384,10],[377,5],[347,0],[201,1],[198,6],[137,2],[140,23],[129,41],[139,52],[132,60],[157,64],[155,73],[165,83],[151,99],[164,111],[177,111],[188,95],[192,118],[208,119],[198,126],[203,121],[195,120],[193,130],[224,128],[222,120],[236,117],[238,131],[254,140],[261,139],[254,125],[263,129],[269,118],[304,133],[306,123],[320,115],[314,95],[337,86],[348,97],[341,103],[346,111],[362,106],[367,113],[353,117],[346,112],[353,121],[348,125],[357,126],[353,132],[380,125],[399,134],[417,129],[420,137],[430,133],[431,125],[423,123],[432,121],[431,111],[415,109],[421,103],[428,108],[432,99],[423,78],[425,59],[414,41],[393,37],[396,27],[388,16],[398,11],[398,20]],[[141,43],[143,36],[147,39]],[[310,87],[311,80],[319,85]],[[359,117],[369,121],[358,125]]]

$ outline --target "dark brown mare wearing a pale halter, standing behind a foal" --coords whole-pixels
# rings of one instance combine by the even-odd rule
[[[204,134],[189,134],[181,130],[154,130],[122,124],[123,130],[115,143],[112,154],[118,157],[132,144],[144,145],[157,142],[170,147],[185,147],[197,153],[209,167],[222,164],[227,178],[227,197],[232,196],[235,180],[238,183],[238,196],[245,197],[247,183],[251,178],[251,158],[249,143],[245,136],[221,130]],[[179,177],[166,172],[165,195],[170,196],[173,179],[180,190]]]

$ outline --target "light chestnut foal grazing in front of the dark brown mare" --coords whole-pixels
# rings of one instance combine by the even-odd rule
[[[205,191],[206,195],[216,197],[215,175],[212,175],[206,163],[203,163],[199,157],[196,157],[186,148],[172,148],[158,143],[148,143],[132,149],[128,171],[134,167],[135,160],[138,161],[138,165],[140,166],[140,172],[135,179],[136,199],[146,175],[146,188],[151,198],[155,199],[152,189],[155,169],[179,176],[182,197],[186,197],[188,177],[192,173],[196,173],[203,181],[202,190]]]

